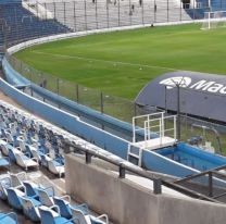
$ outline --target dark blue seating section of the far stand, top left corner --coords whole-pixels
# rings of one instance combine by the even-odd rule
[[[26,10],[20,1],[0,2],[0,45],[7,39],[8,42],[34,39],[52,34],[62,34],[71,29],[54,18],[39,18]],[[4,33],[4,35],[3,35]]]

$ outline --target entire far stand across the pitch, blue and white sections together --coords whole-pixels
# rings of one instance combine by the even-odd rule
[[[203,11],[168,1],[0,2],[0,46],[52,34],[118,26],[190,21]]]

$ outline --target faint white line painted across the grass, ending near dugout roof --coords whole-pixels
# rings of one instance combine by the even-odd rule
[[[85,57],[58,54],[58,53],[46,53],[42,51],[33,51],[33,53],[46,54],[46,55],[58,57],[58,58],[79,59],[84,61],[98,61],[98,62],[115,63],[115,64],[123,64],[123,65],[130,65],[130,66],[154,67],[154,69],[163,69],[163,70],[170,70],[170,71],[178,71],[178,69],[173,69],[173,67],[155,66],[155,65],[149,65],[149,64],[137,64],[137,63],[121,62],[121,61],[108,61],[103,59],[92,59],[92,58],[85,58]]]

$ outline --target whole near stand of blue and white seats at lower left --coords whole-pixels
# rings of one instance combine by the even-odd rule
[[[53,174],[62,176],[62,169],[64,170],[63,149],[65,149],[66,141],[76,142],[85,147],[92,147],[90,144],[45,122],[34,117],[33,115],[16,109],[3,101],[0,103],[0,127],[1,127],[1,152],[8,155],[11,161],[15,161],[22,169],[29,169],[29,165],[23,165],[27,160],[35,159],[37,165],[43,165],[41,155],[48,157],[47,169],[52,172],[49,163],[52,163]],[[95,147],[92,147],[95,149]],[[96,150],[98,148],[96,147]],[[34,157],[34,152],[38,154],[38,159]],[[48,153],[47,153],[48,152]],[[17,160],[21,157],[21,161]],[[53,159],[54,157],[54,159]],[[33,165],[30,165],[33,166]],[[58,170],[60,169],[60,172]],[[70,196],[55,195],[51,186],[43,186],[36,182],[28,181],[27,174],[21,172],[17,174],[9,173],[0,177],[0,199],[8,201],[15,210],[23,211],[24,215],[34,222],[47,223],[52,221],[55,223],[71,222],[78,220],[75,217],[73,211],[80,212],[80,220],[83,223],[109,223],[108,215],[93,216],[90,214],[88,206],[71,204]],[[48,200],[51,206],[55,208],[46,216],[46,209]],[[81,210],[80,210],[81,209]],[[71,216],[65,215],[65,212],[71,212]],[[49,210],[48,210],[49,212]],[[51,216],[54,213],[53,216]],[[0,223],[8,221],[10,224],[16,224],[16,216],[13,214],[0,214]],[[104,217],[105,221],[101,219]],[[13,220],[14,219],[14,220]],[[2,222],[1,222],[2,220]],[[3,222],[4,221],[4,222]],[[86,222],[85,222],[86,221]]]

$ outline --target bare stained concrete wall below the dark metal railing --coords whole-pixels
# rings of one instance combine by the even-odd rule
[[[66,191],[121,224],[225,224],[226,206],[154,195],[73,154],[66,155]]]

